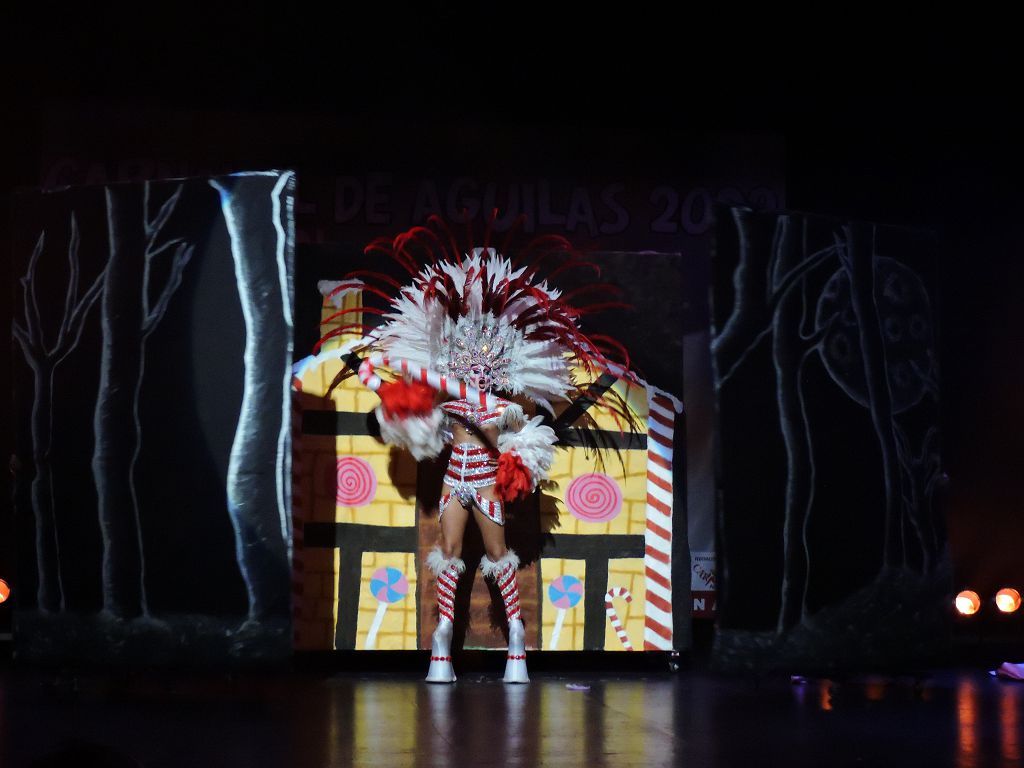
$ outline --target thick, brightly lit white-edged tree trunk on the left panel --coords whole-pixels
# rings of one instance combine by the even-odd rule
[[[227,513],[250,621],[287,614],[290,584],[292,355],[291,173],[212,180],[231,241],[246,325],[242,408],[227,471]],[[268,229],[265,238],[253,237]],[[284,323],[282,323],[282,319]],[[279,372],[276,380],[268,372]],[[276,403],[276,408],[273,403]]]

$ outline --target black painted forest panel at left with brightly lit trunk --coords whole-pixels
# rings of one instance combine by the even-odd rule
[[[18,657],[289,652],[294,187],[16,201]]]

